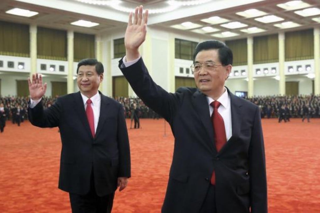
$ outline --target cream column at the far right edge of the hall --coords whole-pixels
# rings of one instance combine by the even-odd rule
[[[320,95],[320,28],[316,27],[314,33],[314,58],[315,58],[315,95]]]

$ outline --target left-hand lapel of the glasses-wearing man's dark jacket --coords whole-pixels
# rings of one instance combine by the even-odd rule
[[[213,126],[212,126],[212,121],[209,115],[208,101],[206,99],[206,96],[202,94],[199,90],[197,90],[193,95],[193,105],[200,117],[200,120],[204,126],[204,129],[209,135],[209,138],[210,138],[209,146],[212,148],[212,150],[216,151],[216,148],[214,146]]]

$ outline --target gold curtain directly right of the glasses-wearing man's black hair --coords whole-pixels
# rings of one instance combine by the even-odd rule
[[[246,38],[226,41],[226,44],[233,53],[233,66],[248,64],[248,45]]]

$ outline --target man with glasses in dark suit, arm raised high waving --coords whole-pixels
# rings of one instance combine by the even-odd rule
[[[224,86],[232,69],[232,51],[219,41],[199,43],[191,65],[197,88],[168,93],[151,79],[138,50],[148,20],[148,11],[144,16],[142,11],[142,6],[136,8],[133,22],[130,13],[126,56],[119,68],[142,101],[169,122],[175,138],[162,212],[266,213],[260,111]],[[220,115],[222,131],[216,131],[222,123],[213,125],[211,114],[213,122]]]

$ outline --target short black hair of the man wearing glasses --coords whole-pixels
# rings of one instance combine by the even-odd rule
[[[202,50],[218,49],[219,60],[222,65],[232,65],[233,54],[232,50],[223,42],[217,40],[208,40],[198,43],[193,54],[193,62],[195,62],[196,55]]]

